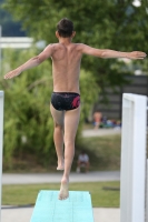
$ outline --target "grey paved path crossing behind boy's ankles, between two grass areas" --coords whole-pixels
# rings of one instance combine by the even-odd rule
[[[62,172],[57,173],[3,173],[2,184],[29,184],[29,183],[59,183]],[[119,171],[97,171],[88,173],[70,173],[70,182],[91,181],[119,181]]]

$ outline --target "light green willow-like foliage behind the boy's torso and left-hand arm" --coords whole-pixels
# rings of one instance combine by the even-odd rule
[[[4,50],[2,75],[38,53],[37,49]],[[99,92],[90,72],[81,71],[80,88],[82,112],[77,137]],[[27,154],[33,155],[42,165],[51,164],[56,152],[53,121],[49,111],[52,92],[50,62],[45,61],[12,80],[3,80],[1,77],[0,90],[4,91],[4,167],[12,168],[14,157],[23,160]]]

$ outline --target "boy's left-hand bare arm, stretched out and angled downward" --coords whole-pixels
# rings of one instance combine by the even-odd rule
[[[43,62],[46,59],[52,56],[52,44],[49,44],[39,56],[31,58],[17,69],[8,72],[4,75],[4,79],[11,79],[13,77],[19,75],[22,71],[31,69],[33,67],[39,65],[41,62]]]

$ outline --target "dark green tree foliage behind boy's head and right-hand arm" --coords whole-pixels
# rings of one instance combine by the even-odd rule
[[[140,7],[134,0],[6,0],[8,9],[36,39],[47,43],[55,42],[57,22],[67,17],[75,22],[77,31],[75,41],[97,48],[109,48],[118,51],[140,50],[148,52],[148,9],[146,1]],[[36,10],[34,10],[36,4]],[[13,10],[14,9],[14,10]],[[117,62],[117,60],[116,60]],[[115,60],[93,59],[85,56],[82,68],[96,74],[101,88],[124,83],[121,63],[112,70]],[[142,69],[144,62],[140,63]],[[127,71],[125,74],[130,73]],[[120,75],[120,77],[119,77]]]

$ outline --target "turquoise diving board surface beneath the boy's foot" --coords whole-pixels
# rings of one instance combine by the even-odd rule
[[[67,200],[58,200],[59,191],[41,190],[30,222],[93,222],[88,191],[69,191]]]

